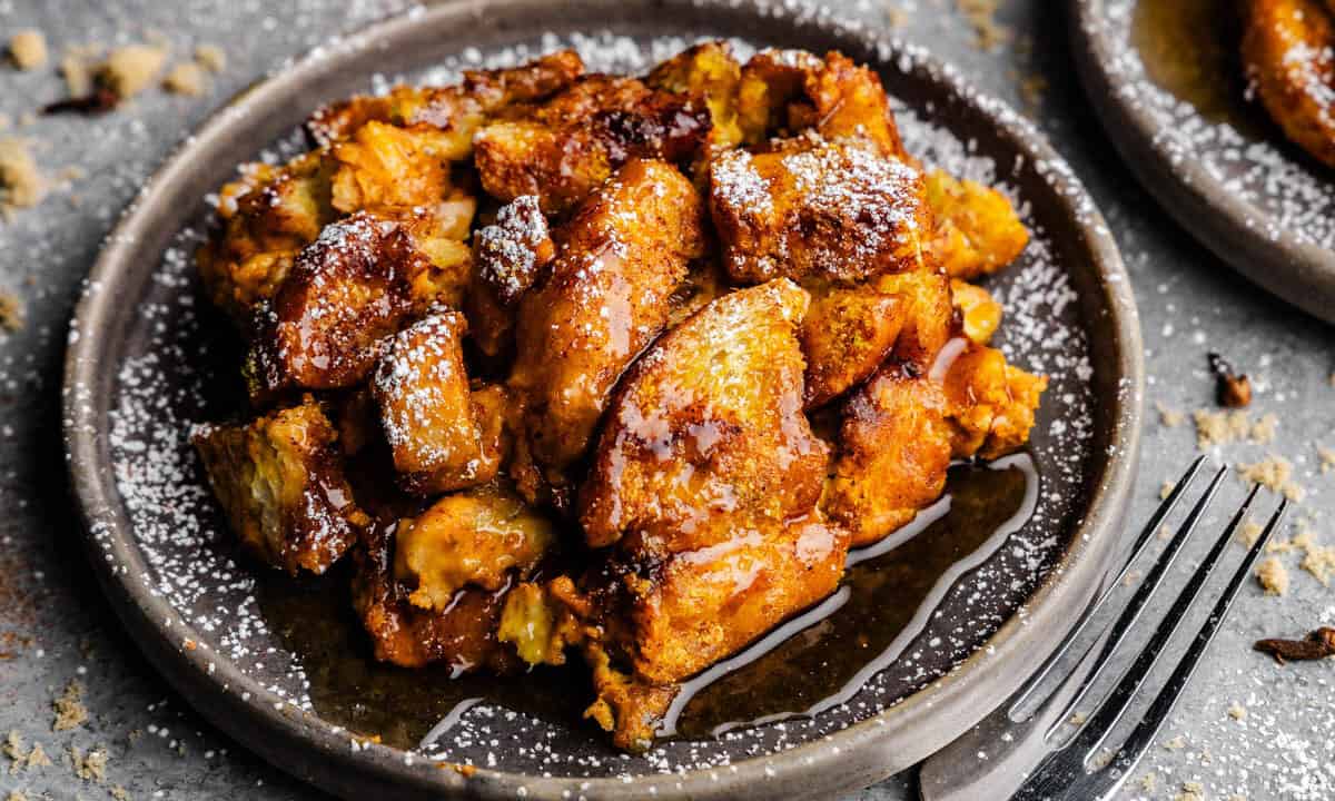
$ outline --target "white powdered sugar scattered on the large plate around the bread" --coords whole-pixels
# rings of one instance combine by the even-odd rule
[[[490,55],[465,51],[425,77],[433,83],[449,81],[463,68],[511,65],[567,45],[578,48],[593,69],[643,71],[694,40],[673,36],[639,43],[611,33],[569,39],[549,35]],[[734,47],[741,57],[753,49],[741,41]],[[900,65],[906,71],[909,63]],[[380,88],[386,83],[376,81]],[[1043,220],[1036,219],[1025,198],[1007,182],[1023,170],[1064,174],[1067,168],[1023,160],[997,164],[977,143],[961,142],[926,121],[929,108],[901,107],[897,113],[912,154],[926,166],[1000,184],[1035,232],[1021,263],[997,276],[989,288],[1003,299],[1009,318],[999,347],[1017,364],[1052,378],[1033,438],[1043,485],[1029,523],[948,594],[969,609],[969,615],[930,619],[894,665],[838,708],[842,714],[734,729],[717,741],[670,741],[647,754],[627,756],[611,753],[595,734],[569,721],[545,721],[482,702],[461,710],[449,737],[421,749],[421,756],[551,776],[726,772],[736,769],[734,758],[764,758],[794,745],[818,742],[850,721],[873,718],[937,678],[941,672],[932,665],[959,665],[1003,622],[1015,614],[1024,615],[1023,603],[1065,545],[1076,513],[1073,503],[1093,458],[1095,403],[1088,342],[1063,262],[1068,256],[1055,248]],[[180,613],[183,626],[198,633],[200,647],[234,662],[263,688],[267,693],[263,701],[318,713],[304,668],[260,614],[251,569],[232,559],[231,537],[187,442],[192,422],[218,419],[236,409],[226,403],[227,398],[219,398],[216,390],[236,382],[227,360],[215,356],[219,347],[215,343],[226,342],[230,332],[215,331],[216,323],[192,302],[195,275],[188,254],[199,240],[198,232],[186,231],[166,252],[143,303],[138,335],[129,340],[132,351],[120,366],[111,415],[117,486],[150,565],[147,581],[152,591]],[[250,689],[232,692],[243,700],[251,698]],[[332,732],[344,730],[338,721],[312,721]],[[525,734],[515,737],[514,732]],[[354,750],[383,748],[356,738],[350,742]],[[405,758],[411,761],[413,756]]]

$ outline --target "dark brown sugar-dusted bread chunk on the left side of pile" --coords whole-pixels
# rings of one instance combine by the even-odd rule
[[[394,220],[358,214],[327,226],[263,316],[246,364],[251,396],[359,383],[376,343],[413,311],[413,278],[431,268]]]

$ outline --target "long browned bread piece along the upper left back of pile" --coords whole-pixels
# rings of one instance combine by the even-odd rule
[[[463,160],[473,135],[490,115],[517,103],[534,103],[569,87],[583,73],[574,51],[561,51],[510,69],[466,71],[455,87],[398,85],[382,97],[356,96],[311,115],[306,132],[319,146],[347,139],[367,121],[430,125],[447,136],[445,158]]]

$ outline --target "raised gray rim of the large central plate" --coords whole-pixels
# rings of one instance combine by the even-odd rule
[[[466,21],[486,11],[518,13],[525,8],[546,8],[550,13],[550,7],[541,0],[451,0],[370,25],[336,47],[316,49],[243,91],[232,103],[214,112],[158,168],[108,235],[84,283],[85,291],[71,318],[63,391],[65,455],[85,550],[104,594],[140,650],[206,720],[227,736],[298,778],[344,797],[366,792],[383,794],[392,789],[394,797],[405,798],[442,794],[562,798],[570,797],[571,790],[587,797],[633,798],[653,788],[659,797],[669,798],[768,798],[780,789],[785,797],[816,797],[866,786],[943,748],[1017,689],[1024,676],[1036,669],[1055,645],[1055,641],[1045,645],[1036,642],[1051,639],[1053,631],[1064,631],[1069,626],[1073,615],[1067,610],[1083,607],[1093,597],[1108,557],[1121,539],[1119,527],[1135,483],[1143,418],[1144,358],[1139,316],[1129,276],[1103,216],[1073,171],[1033,124],[1011,112],[1004,103],[975,91],[953,68],[925,55],[921,48],[889,40],[825,9],[800,8],[782,0],[582,0],[585,7],[611,3],[641,7],[653,13],[684,7],[697,12],[752,15],[797,29],[809,28],[813,35],[852,40],[877,53],[876,60],[882,68],[900,64],[906,72],[921,73],[920,80],[940,84],[945,93],[993,120],[999,139],[1017,154],[1035,163],[1047,163],[1049,170],[1045,178],[1056,202],[1064,204],[1072,219],[1084,218],[1080,235],[1093,255],[1092,270],[1097,274],[1103,306],[1111,318],[1108,324],[1116,335],[1112,344],[1115,358],[1109,363],[1117,368],[1113,378],[1119,382],[1119,391],[1107,400],[1111,406],[1111,453],[1107,458],[1093,454],[1089,511],[1083,522],[1076,523],[1072,543],[1059,557],[1057,565],[1021,605],[1028,614],[1012,614],[984,646],[944,677],[894,706],[825,738],[725,768],[680,774],[647,773],[635,776],[633,781],[621,777],[539,777],[490,769],[477,769],[465,776],[463,772],[442,770],[438,762],[430,760],[405,760],[403,752],[379,744],[354,742],[350,746],[346,732],[335,733],[318,714],[284,704],[222,654],[214,655],[207,649],[187,645],[186,635],[194,629],[166,599],[154,595],[139,581],[147,565],[128,521],[121,525],[116,519],[119,490],[99,426],[109,410],[111,398],[89,396],[89,387],[109,380],[97,356],[113,346],[104,344],[107,338],[91,334],[101,331],[117,311],[124,314],[117,310],[119,299],[112,292],[99,290],[115,282],[117,272],[144,247],[140,234],[158,216],[156,206],[162,206],[162,195],[184,179],[191,170],[188,163],[199,151],[226,136],[251,109],[262,108],[266,99],[278,97],[291,87],[318,80],[322,75],[336,73],[339,65],[354,56],[370,48],[387,47],[388,41],[407,36],[418,25]],[[906,60],[901,61],[902,57]],[[156,204],[155,198],[159,200]],[[886,725],[889,716],[894,716],[897,729]],[[952,717],[943,721],[943,716]],[[917,728],[918,721],[933,724],[925,726],[930,732]]]

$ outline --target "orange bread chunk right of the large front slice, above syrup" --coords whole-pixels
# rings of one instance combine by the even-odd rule
[[[869,545],[941,497],[952,429],[940,383],[886,364],[844,407],[838,455],[822,507]]]

